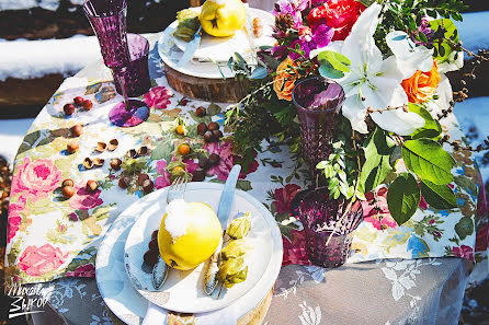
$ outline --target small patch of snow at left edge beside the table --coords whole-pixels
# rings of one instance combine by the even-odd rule
[[[13,162],[22,139],[27,134],[34,118],[0,119],[0,155]]]

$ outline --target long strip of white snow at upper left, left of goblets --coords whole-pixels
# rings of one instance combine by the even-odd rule
[[[8,77],[31,79],[48,73],[76,73],[102,57],[96,37],[84,35],[65,39],[3,40],[0,48],[0,81]]]

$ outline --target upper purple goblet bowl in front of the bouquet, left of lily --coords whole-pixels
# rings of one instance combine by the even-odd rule
[[[317,175],[316,164],[331,152],[337,115],[344,101],[341,85],[322,77],[312,77],[297,83],[292,92],[300,121],[302,154]]]

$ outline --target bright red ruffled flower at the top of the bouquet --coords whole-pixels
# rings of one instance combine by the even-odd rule
[[[312,9],[307,22],[314,31],[326,23],[327,26],[334,30],[332,40],[343,40],[350,34],[363,10],[365,10],[365,5],[356,0],[331,0]]]

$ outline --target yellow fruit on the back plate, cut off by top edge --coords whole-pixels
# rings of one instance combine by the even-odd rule
[[[246,22],[247,10],[241,0],[207,0],[202,5],[202,28],[212,36],[232,36]]]

